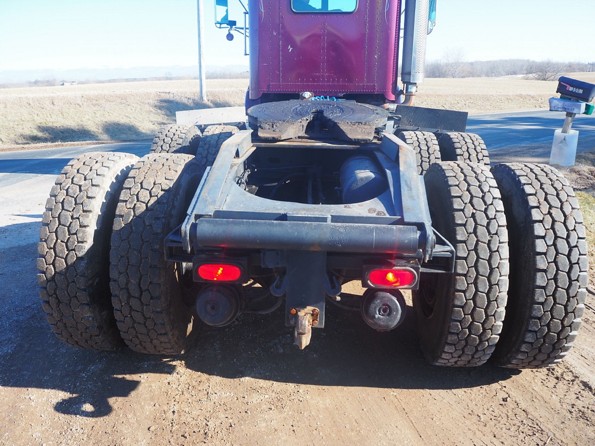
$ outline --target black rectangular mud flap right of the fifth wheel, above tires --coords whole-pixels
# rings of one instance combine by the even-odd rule
[[[403,130],[422,131],[465,131],[467,128],[467,112],[441,110],[438,108],[397,105],[394,112],[395,132]]]

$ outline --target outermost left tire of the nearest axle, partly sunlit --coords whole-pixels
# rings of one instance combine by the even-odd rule
[[[62,169],[39,231],[37,275],[46,319],[65,343],[122,345],[109,296],[109,237],[126,175],[137,156],[95,152]]]

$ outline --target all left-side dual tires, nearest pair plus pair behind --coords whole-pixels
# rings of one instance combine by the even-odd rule
[[[178,354],[192,344],[192,271],[166,262],[163,240],[237,127],[170,125],[151,153],[96,152],[62,169],[43,213],[37,275],[46,319],[80,348]],[[197,155],[197,156],[195,156]]]

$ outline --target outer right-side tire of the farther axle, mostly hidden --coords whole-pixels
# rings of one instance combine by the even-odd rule
[[[486,143],[475,133],[451,131],[438,139],[442,161],[466,161],[490,165]]]

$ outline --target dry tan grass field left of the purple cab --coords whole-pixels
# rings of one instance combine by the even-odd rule
[[[248,79],[170,80],[0,89],[0,146],[152,138],[176,111],[242,105]]]

